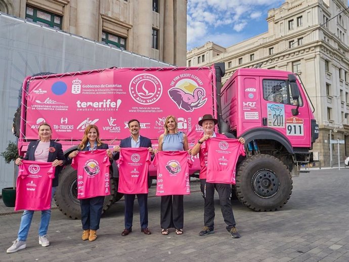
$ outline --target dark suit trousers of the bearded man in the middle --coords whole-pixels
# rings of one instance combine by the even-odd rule
[[[136,194],[124,194],[125,198],[125,229],[132,228],[134,219],[134,203]],[[137,201],[140,208],[141,228],[148,227],[148,194],[137,194]]]

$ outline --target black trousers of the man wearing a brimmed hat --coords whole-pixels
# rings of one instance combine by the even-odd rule
[[[214,189],[217,190],[220,197],[221,210],[224,222],[227,224],[226,229],[230,231],[235,227],[235,219],[232,209],[230,196],[232,188],[229,184],[206,183],[205,179],[200,180],[200,189],[204,198],[204,226],[210,230],[214,229]]]

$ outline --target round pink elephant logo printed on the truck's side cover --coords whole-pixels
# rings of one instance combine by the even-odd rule
[[[197,86],[191,79],[179,81],[174,88],[168,90],[168,95],[179,109],[186,112],[193,112],[194,109],[202,107],[207,101],[205,90]]]

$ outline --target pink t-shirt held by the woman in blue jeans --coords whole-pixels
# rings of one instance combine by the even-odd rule
[[[50,209],[56,167],[51,162],[22,160],[22,163],[18,171],[15,210]]]

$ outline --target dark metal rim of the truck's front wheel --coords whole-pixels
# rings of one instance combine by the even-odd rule
[[[279,190],[279,179],[276,174],[268,169],[258,170],[252,177],[254,194],[261,198],[271,198]]]

